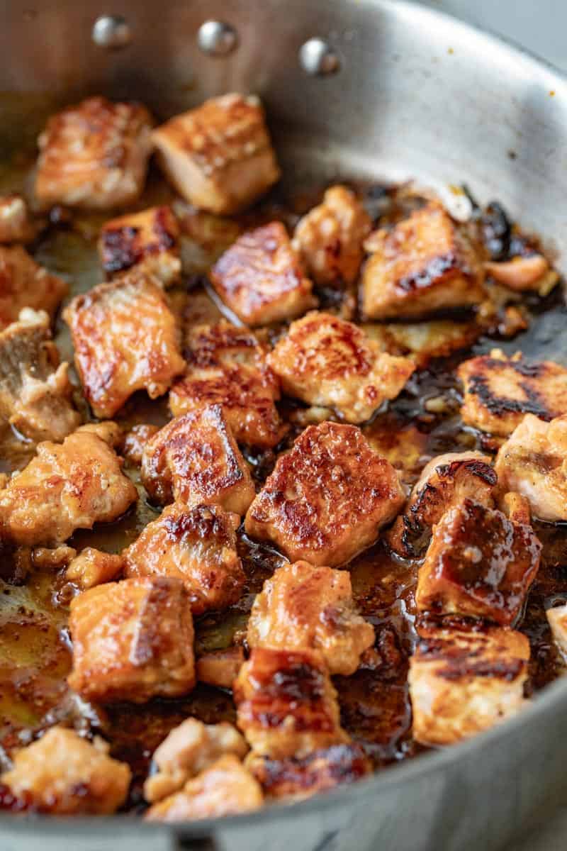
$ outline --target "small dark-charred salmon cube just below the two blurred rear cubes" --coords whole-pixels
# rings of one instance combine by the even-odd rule
[[[179,226],[169,207],[151,207],[107,221],[99,235],[106,277],[142,266],[167,287],[181,275]]]

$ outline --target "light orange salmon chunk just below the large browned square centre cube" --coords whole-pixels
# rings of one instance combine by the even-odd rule
[[[332,674],[349,676],[374,643],[374,629],[354,608],[346,570],[286,564],[264,582],[248,621],[249,647],[312,648]]]

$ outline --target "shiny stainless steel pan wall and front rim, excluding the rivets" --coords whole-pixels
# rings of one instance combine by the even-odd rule
[[[91,40],[108,12],[100,0],[41,0],[34,11],[17,0],[0,9],[0,89],[20,93],[0,98],[0,146],[41,126],[46,97],[49,109],[95,92],[138,97],[167,117],[211,94],[258,92],[297,180],[414,177],[450,197],[465,179],[546,234],[567,271],[567,83],[490,36],[388,0],[122,0],[133,40],[105,52]],[[238,31],[223,60],[197,45],[212,19]],[[309,77],[298,63],[314,34],[337,49],[337,74]],[[496,851],[561,800],[566,757],[559,682],[502,728],[293,808],[174,827],[3,819],[0,848],[36,851],[41,836],[43,851]]]

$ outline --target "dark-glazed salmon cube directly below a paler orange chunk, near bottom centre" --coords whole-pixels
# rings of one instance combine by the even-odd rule
[[[305,757],[349,742],[340,725],[337,692],[313,650],[253,648],[233,694],[236,722],[255,753]]]

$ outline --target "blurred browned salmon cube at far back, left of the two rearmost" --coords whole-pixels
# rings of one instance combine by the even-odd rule
[[[43,206],[126,206],[144,188],[150,113],[140,104],[88,98],[49,118],[37,144],[36,195]]]

